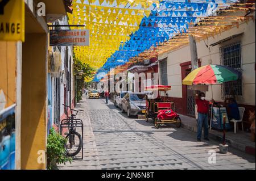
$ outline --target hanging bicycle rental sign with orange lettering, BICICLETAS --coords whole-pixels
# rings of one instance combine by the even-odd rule
[[[50,30],[50,46],[89,46],[89,30]]]

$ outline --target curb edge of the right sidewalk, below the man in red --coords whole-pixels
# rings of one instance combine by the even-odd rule
[[[188,131],[192,131],[192,132],[197,132],[197,129],[195,127],[189,126],[189,125],[185,125],[185,124],[181,124],[181,127],[184,129],[187,129]],[[213,140],[222,141],[222,137],[218,136],[216,134],[212,134],[209,133],[209,138],[212,138]],[[250,155],[254,155],[255,156],[255,148],[251,147],[251,146],[246,146],[244,144],[241,144],[239,142],[235,142],[233,140],[229,140],[228,138],[226,138],[226,143],[230,146],[230,148],[234,148],[236,150],[240,150],[243,153],[246,154],[250,154]]]

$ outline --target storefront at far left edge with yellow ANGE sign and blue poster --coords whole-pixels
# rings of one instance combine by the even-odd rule
[[[20,68],[24,7],[23,1],[12,0],[6,2],[0,12],[0,170],[20,168]]]

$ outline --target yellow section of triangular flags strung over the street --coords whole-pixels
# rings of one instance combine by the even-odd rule
[[[96,1],[89,1],[94,3]],[[100,5],[104,1],[99,2]],[[109,5],[118,1],[105,1]],[[135,6],[142,1],[130,1]],[[143,1],[152,2],[154,1]],[[156,1],[158,3],[159,1]],[[121,7],[107,7],[85,4],[88,1],[75,1],[73,14],[69,14],[69,24],[85,24],[90,31],[89,47],[75,47],[77,58],[93,66],[100,68],[108,58],[130,39],[130,34],[139,29],[142,18],[149,16],[150,10],[125,9]],[[119,1],[127,5],[127,1]],[[151,5],[152,5],[151,3]],[[159,3],[158,3],[159,5]],[[108,45],[108,46],[106,46]]]

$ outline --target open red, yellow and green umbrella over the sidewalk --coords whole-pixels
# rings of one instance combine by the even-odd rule
[[[183,80],[183,85],[213,85],[229,81],[237,81],[241,77],[241,73],[228,66],[222,65],[206,65],[193,70]]]

